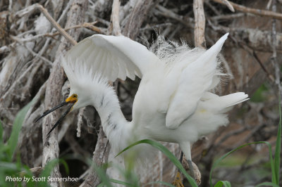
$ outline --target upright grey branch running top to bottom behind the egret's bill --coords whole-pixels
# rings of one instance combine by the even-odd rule
[[[66,23],[66,27],[78,25],[83,22],[84,13],[87,7],[86,0],[75,0]],[[64,31],[65,32],[65,31]],[[70,35],[74,39],[78,39],[80,32],[78,30],[70,31]],[[76,43],[76,41],[75,41]],[[47,82],[46,94],[45,94],[45,108],[53,108],[61,101],[61,89],[64,82],[64,73],[60,65],[60,58],[63,53],[70,47],[70,44],[66,39],[62,40],[59,49],[56,53],[56,60],[54,62],[50,77]],[[59,143],[57,141],[57,129],[47,137],[47,133],[51,129],[52,125],[55,124],[58,112],[53,112],[43,120],[42,124],[42,135],[43,135],[43,158],[42,166],[44,167],[47,162],[59,157]],[[56,165],[53,169],[51,177],[61,177],[59,172],[59,165]],[[61,183],[53,182],[51,186],[61,186]]]

